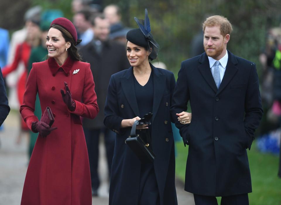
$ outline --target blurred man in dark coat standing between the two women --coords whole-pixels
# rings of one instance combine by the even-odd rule
[[[97,168],[99,136],[101,133],[104,134],[109,175],[114,151],[116,133],[105,128],[103,125],[104,104],[109,79],[112,74],[130,66],[126,58],[125,46],[108,39],[109,27],[109,20],[105,18],[104,15],[96,15],[93,18],[94,39],[92,39],[86,46],[80,48],[83,60],[91,64],[91,70],[96,85],[95,91],[98,96],[97,102],[100,107],[100,112],[95,119],[83,119],[83,129],[90,160],[93,196],[97,196],[97,190],[100,185]]]

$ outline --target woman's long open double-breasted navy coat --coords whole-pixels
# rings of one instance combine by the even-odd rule
[[[155,153],[154,170],[161,205],[177,204],[175,151],[170,104],[175,86],[174,74],[155,68],[153,73],[153,118],[151,138]],[[111,76],[104,108],[104,125],[116,132],[109,189],[109,204],[138,205],[140,161],[125,144],[131,127],[120,128],[123,119],[142,117],[134,90],[133,67]]]

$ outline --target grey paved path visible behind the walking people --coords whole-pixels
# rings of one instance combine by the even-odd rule
[[[0,205],[19,205],[24,178],[28,165],[28,137],[24,135],[20,144],[16,144],[19,133],[19,116],[11,111],[0,132]],[[101,140],[102,141],[102,140]],[[101,185],[99,197],[93,197],[92,204],[108,204],[108,173],[104,145],[100,144],[99,173]],[[194,205],[193,196],[184,191],[181,182],[176,183],[178,205]],[[171,204],[172,205],[172,204]]]

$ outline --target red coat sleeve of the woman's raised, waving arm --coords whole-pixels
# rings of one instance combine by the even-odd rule
[[[97,105],[97,95],[95,92],[95,82],[93,79],[92,71],[90,69],[90,64],[88,64],[85,71],[84,87],[82,102],[74,100],[76,107],[73,111],[69,110],[70,113],[82,116],[84,118],[94,119],[99,112],[99,107]]]

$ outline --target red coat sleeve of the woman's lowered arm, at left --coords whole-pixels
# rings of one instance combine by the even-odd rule
[[[30,74],[28,75],[25,92],[23,95],[23,104],[20,106],[20,114],[30,130],[32,130],[32,122],[39,121],[38,118],[34,115],[37,92],[37,72],[34,64],[32,64],[32,68],[30,70]],[[32,132],[34,131],[32,130]]]

